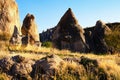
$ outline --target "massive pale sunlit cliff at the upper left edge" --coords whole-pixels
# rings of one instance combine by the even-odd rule
[[[20,20],[18,6],[15,0],[1,0],[0,1],[0,35],[10,39],[14,26],[20,32]]]

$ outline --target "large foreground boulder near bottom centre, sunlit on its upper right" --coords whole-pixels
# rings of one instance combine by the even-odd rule
[[[51,77],[57,73],[63,63],[64,61],[57,55],[50,55],[37,61],[35,64],[35,78],[38,76],[43,80],[51,80]]]

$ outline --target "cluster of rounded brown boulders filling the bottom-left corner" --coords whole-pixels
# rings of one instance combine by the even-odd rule
[[[0,60],[0,68],[11,76],[10,80],[31,80],[34,61],[22,56],[5,57]]]

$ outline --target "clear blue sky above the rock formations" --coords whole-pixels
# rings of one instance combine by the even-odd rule
[[[56,26],[68,8],[79,24],[94,26],[97,20],[120,22],[120,0],[16,0],[21,24],[27,13],[35,16],[38,31]]]

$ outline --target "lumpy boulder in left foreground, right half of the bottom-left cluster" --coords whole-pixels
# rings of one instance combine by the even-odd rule
[[[35,62],[20,55],[16,55],[12,59],[15,62],[11,68],[14,79],[31,80],[31,73]]]

